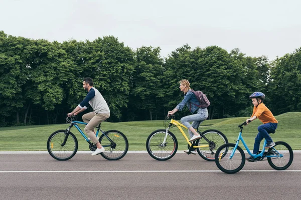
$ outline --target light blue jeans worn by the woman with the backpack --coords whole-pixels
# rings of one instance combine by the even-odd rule
[[[191,126],[193,128],[199,127],[200,123],[208,117],[208,110],[207,108],[199,108],[197,109],[196,114],[191,114],[188,116],[184,116],[181,118],[181,123],[183,123],[187,128],[190,128]],[[192,124],[189,122],[193,121]],[[194,135],[190,130],[188,130],[190,138]]]

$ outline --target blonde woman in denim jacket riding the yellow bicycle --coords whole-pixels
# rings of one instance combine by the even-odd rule
[[[191,139],[189,141],[194,141],[200,138],[200,134],[197,133],[195,128],[197,128],[201,121],[204,121],[208,117],[208,110],[207,108],[201,108],[200,102],[198,101],[196,95],[191,91],[190,83],[188,80],[183,79],[179,81],[180,83],[180,90],[184,93],[184,99],[171,111],[168,112],[168,115],[175,114],[178,110],[182,110],[185,104],[188,106],[191,113],[196,112],[195,114],[191,114],[188,116],[184,116],[181,118],[181,122],[188,128],[189,135]],[[189,122],[193,121],[192,124]],[[184,152],[189,152],[189,150],[184,150]],[[193,154],[196,154],[197,151],[193,150],[190,151]]]

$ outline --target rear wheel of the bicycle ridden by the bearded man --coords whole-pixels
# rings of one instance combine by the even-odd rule
[[[112,142],[105,136],[109,137]],[[108,130],[99,137],[99,142],[105,151],[100,153],[102,157],[108,160],[121,159],[128,150],[128,141],[126,136],[119,130]]]

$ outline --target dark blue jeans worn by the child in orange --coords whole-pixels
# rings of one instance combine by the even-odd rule
[[[258,134],[255,137],[253,154],[256,154],[259,150],[260,141],[265,138],[266,142],[272,142],[272,138],[268,134],[268,132],[272,132],[277,128],[278,123],[264,123],[258,126]]]

